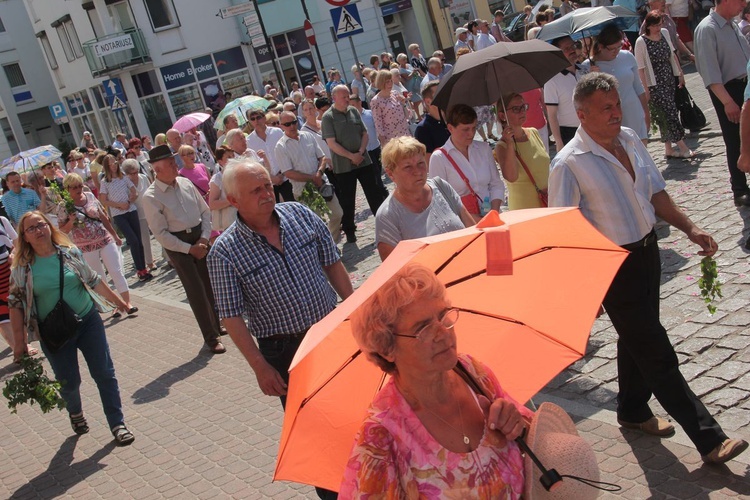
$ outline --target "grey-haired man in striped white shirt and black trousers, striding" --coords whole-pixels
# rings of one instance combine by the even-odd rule
[[[674,426],[649,408],[653,394],[704,462],[724,463],[748,444],[724,434],[680,373],[659,320],[656,218],[683,231],[701,247],[699,255],[713,255],[717,244],[672,201],[635,131],[621,127],[617,80],[588,74],[578,81],[573,99],[581,126],[552,161],[549,200],[552,207],[580,207],[594,227],[630,252],[603,303],[619,337],[617,421],[655,436],[674,434]]]

